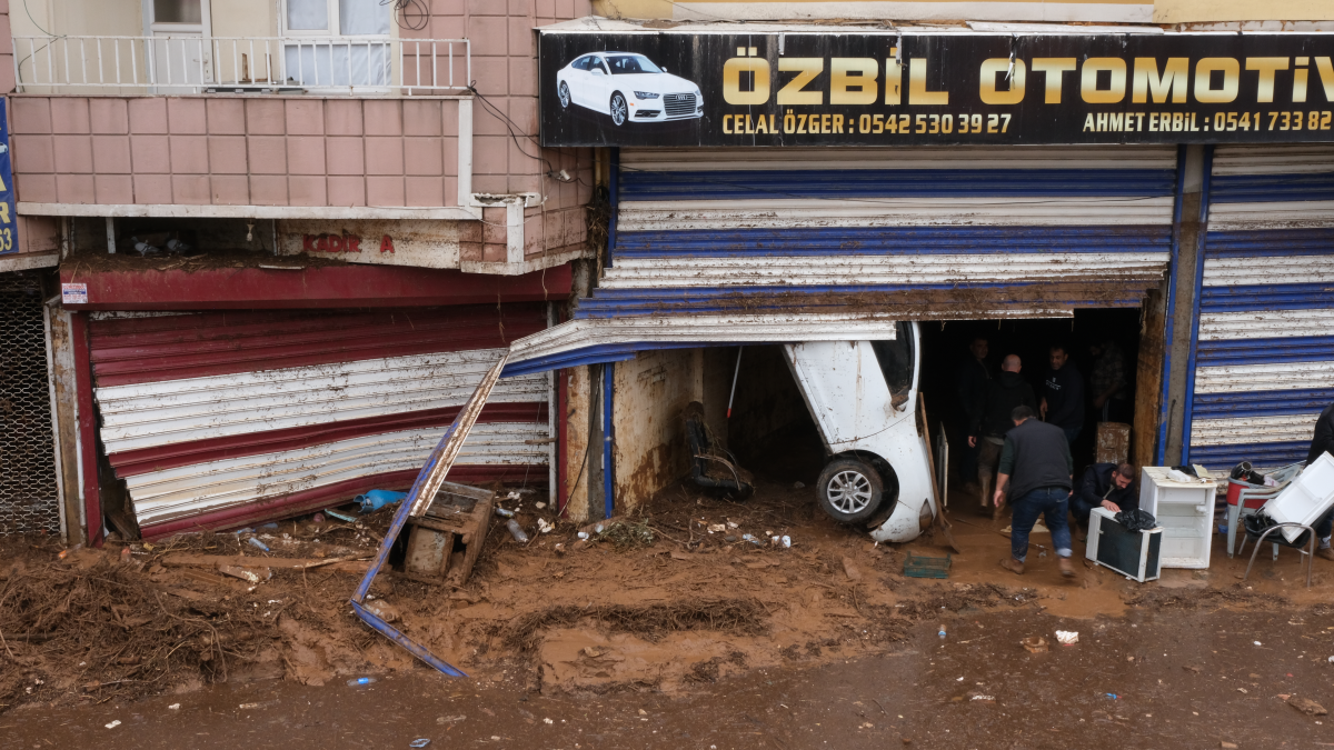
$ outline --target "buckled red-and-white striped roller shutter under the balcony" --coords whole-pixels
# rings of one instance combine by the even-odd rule
[[[95,314],[100,438],[147,538],[411,484],[544,304]],[[546,478],[547,379],[503,382],[451,478]]]

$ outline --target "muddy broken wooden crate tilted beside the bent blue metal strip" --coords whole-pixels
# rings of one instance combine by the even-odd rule
[[[463,586],[482,554],[495,492],[446,482],[431,507],[408,519],[404,574],[424,583]]]

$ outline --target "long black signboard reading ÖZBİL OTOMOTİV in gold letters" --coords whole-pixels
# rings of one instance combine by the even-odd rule
[[[543,32],[543,145],[1334,140],[1334,35]]]

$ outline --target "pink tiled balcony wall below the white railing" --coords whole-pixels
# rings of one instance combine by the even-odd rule
[[[459,206],[454,100],[11,99],[19,200]]]

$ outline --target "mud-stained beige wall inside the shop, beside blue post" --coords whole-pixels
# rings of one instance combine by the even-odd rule
[[[664,350],[616,363],[612,456],[618,515],[634,511],[690,471],[680,415],[690,402],[703,400],[703,350]]]

